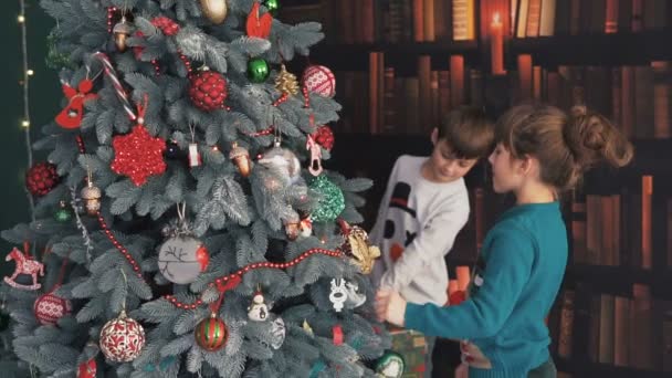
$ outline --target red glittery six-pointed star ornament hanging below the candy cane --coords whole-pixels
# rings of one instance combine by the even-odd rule
[[[166,171],[166,140],[151,137],[141,123],[129,134],[115,136],[112,146],[112,170],[117,175],[128,176],[138,187],[143,186],[149,176]]]

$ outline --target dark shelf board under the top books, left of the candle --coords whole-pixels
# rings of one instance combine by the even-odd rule
[[[317,44],[311,50],[311,60],[328,62],[332,70],[368,71],[369,53],[385,53],[386,65],[417,72],[418,56],[432,56],[437,69],[447,70],[450,55],[464,55],[468,64],[480,64],[479,41],[450,41],[423,43],[356,43],[356,44]]]

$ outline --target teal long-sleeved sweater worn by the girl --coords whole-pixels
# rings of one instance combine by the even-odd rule
[[[406,327],[469,339],[491,363],[470,378],[521,378],[549,358],[544,319],[567,264],[567,231],[558,202],[516,206],[483,241],[470,297],[456,306],[406,307]]]

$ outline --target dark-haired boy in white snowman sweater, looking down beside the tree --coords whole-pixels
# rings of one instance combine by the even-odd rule
[[[431,156],[397,159],[370,233],[382,254],[375,284],[409,302],[447,304],[444,256],[469,219],[463,177],[491,153],[493,128],[480,108],[459,107],[432,130]],[[427,338],[426,377],[431,377],[433,342]]]

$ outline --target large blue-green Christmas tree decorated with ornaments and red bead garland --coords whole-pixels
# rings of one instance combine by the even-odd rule
[[[276,0],[43,0],[63,109],[4,279],[49,377],[374,376],[389,337],[356,207],[322,167],[335,80]],[[389,355],[388,355],[389,356]]]

